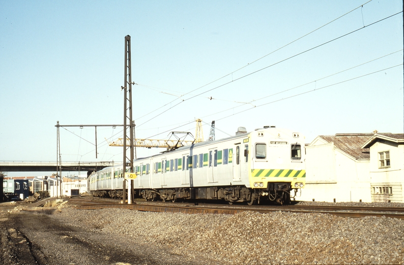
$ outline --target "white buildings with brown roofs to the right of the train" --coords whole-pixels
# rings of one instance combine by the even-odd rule
[[[403,185],[403,133],[320,135],[306,147],[306,186],[296,199],[404,202]]]

